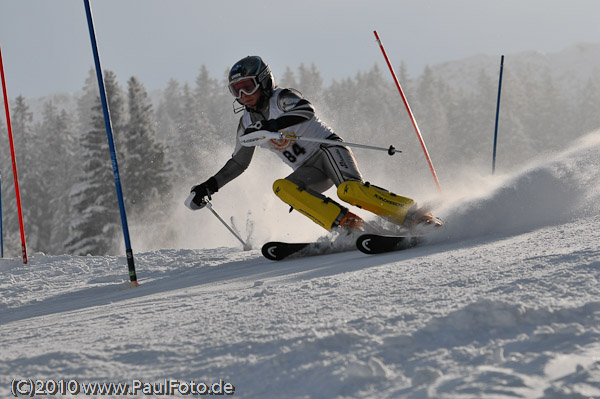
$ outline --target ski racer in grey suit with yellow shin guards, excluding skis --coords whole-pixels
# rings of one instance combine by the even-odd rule
[[[407,228],[439,224],[429,212],[419,209],[414,200],[365,182],[350,148],[317,117],[312,104],[300,92],[275,85],[269,66],[260,57],[248,56],[233,65],[229,72],[229,90],[235,97],[234,112],[243,110],[236,147],[223,168],[204,183],[192,187],[185,201],[190,209],[201,209],[205,197],[210,198],[249,166],[255,147],[243,146],[240,137],[267,130],[336,142],[319,144],[273,139],[258,144],[275,152],[293,169],[289,176],[274,182],[275,195],[326,230],[364,230],[362,218],[321,194],[334,184],[342,201],[395,224]],[[236,108],[236,102],[241,106]]]

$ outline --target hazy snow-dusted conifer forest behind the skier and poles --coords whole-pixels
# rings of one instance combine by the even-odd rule
[[[497,71],[469,77],[468,89],[429,67],[417,78],[408,76],[404,64],[397,71],[442,179],[465,165],[489,169]],[[374,66],[325,84],[315,65],[302,64],[275,78],[280,86],[300,90],[346,140],[399,142],[405,164],[423,168],[413,127],[387,71]],[[600,75],[590,76],[575,100],[548,70],[505,70],[503,82],[500,169],[560,150],[600,127]],[[172,79],[154,101],[136,77],[123,87],[107,70],[105,86],[128,216],[134,225],[168,236],[176,228],[169,223],[169,207],[173,190],[180,189],[177,182],[182,176],[200,182],[208,177],[200,170],[215,172],[221,166],[207,164],[208,155],[233,149],[239,114],[233,112],[226,79],[211,76],[203,66],[195,82]],[[10,102],[27,245],[47,254],[114,254],[122,240],[121,221],[93,71],[74,103],[65,106],[49,97],[34,117],[23,96]],[[20,253],[20,235],[2,118],[0,132],[4,245],[10,257]],[[383,173],[398,173],[389,164],[382,163]]]

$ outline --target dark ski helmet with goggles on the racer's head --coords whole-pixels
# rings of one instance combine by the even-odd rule
[[[242,58],[229,71],[229,91],[239,100],[242,93],[251,95],[262,90],[265,98],[273,94],[271,68],[257,55]]]

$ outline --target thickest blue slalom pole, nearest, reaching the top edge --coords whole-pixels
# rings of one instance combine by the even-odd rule
[[[98,54],[98,44],[96,42],[96,33],[94,30],[94,20],[92,18],[92,10],[90,1],[83,0],[85,12],[87,15],[88,27],[90,31],[90,40],[92,42],[92,52],[94,53],[94,63],[96,66],[96,75],[98,77],[98,87],[100,89],[100,99],[102,101],[102,109],[104,111],[104,123],[106,125],[106,136],[108,139],[108,147],[110,148],[110,157],[112,160],[113,173],[115,176],[115,188],[117,190],[117,199],[119,201],[119,210],[121,212],[121,225],[123,227],[123,236],[125,238],[125,254],[127,256],[127,267],[129,269],[129,280],[134,286],[138,286],[137,275],[135,273],[135,264],[133,261],[133,250],[129,240],[129,228],[127,227],[127,215],[125,213],[125,203],[123,202],[123,190],[121,189],[121,179],[119,178],[119,166],[117,164],[117,153],[115,151],[115,143],[112,134],[112,124],[110,121],[110,112],[108,109],[108,101],[106,99],[106,88],[104,87],[104,78],[102,76],[102,67],[100,66],[100,56]]]

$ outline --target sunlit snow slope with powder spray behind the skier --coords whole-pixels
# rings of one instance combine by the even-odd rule
[[[2,397],[13,379],[174,379],[239,398],[600,398],[599,150],[595,133],[457,184],[444,229],[404,252],[160,249],[135,254],[135,288],[122,256],[2,259]]]

